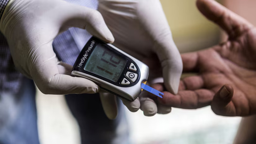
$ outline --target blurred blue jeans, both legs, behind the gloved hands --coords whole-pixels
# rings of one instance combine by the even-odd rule
[[[35,85],[24,79],[17,95],[0,93],[0,144],[39,144]],[[124,107],[116,120],[105,116],[98,94],[65,96],[80,126],[82,144],[128,144]]]

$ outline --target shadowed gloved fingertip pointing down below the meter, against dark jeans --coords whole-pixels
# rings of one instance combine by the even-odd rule
[[[117,96],[114,94],[108,93],[106,91],[99,92],[100,101],[103,107],[103,110],[108,117],[108,119],[113,120],[117,117]]]

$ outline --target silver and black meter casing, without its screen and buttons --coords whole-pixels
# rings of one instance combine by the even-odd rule
[[[125,68],[121,73],[121,76],[119,76],[117,82],[111,81],[103,76],[85,70],[86,62],[97,45],[104,46],[104,48],[107,48],[112,53],[115,53],[115,55],[119,55],[122,58],[126,59]],[[135,69],[130,70],[129,68],[131,67],[131,65],[134,66]],[[130,73],[134,73],[135,75],[137,74],[137,79],[131,79]],[[104,89],[121,98],[125,98],[126,100],[134,101],[141,93],[141,83],[147,81],[148,73],[149,68],[146,64],[142,63],[138,59],[135,59],[131,55],[128,55],[124,51],[118,49],[111,44],[107,44],[99,40],[98,38],[91,37],[84,46],[83,50],[80,52],[79,56],[77,57],[71,75],[89,79],[95,84],[99,85],[101,89]],[[124,79],[126,80],[126,82],[129,81],[128,83],[130,84],[121,84],[124,82]]]

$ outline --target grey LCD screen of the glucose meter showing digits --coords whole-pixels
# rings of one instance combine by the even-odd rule
[[[127,60],[98,44],[86,62],[84,70],[117,82]]]

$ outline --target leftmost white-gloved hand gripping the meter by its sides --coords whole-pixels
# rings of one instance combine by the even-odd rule
[[[58,62],[53,51],[53,39],[69,27],[114,41],[98,11],[62,0],[11,0],[0,21],[16,68],[44,94],[97,93],[98,85],[70,76],[72,66]]]

